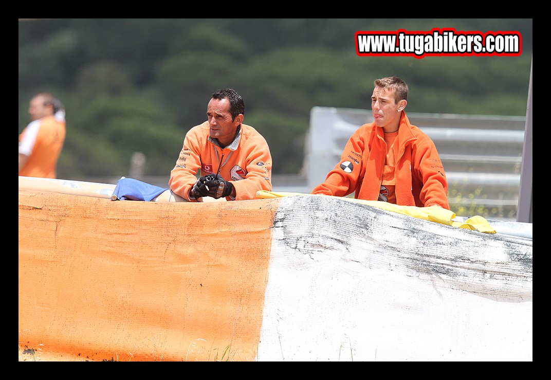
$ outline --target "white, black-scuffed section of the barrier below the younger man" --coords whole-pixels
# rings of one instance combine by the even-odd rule
[[[259,361],[531,361],[532,242],[292,196]]]

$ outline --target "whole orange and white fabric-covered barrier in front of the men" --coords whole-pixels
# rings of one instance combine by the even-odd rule
[[[530,361],[532,240],[327,196],[19,190],[19,360]]]

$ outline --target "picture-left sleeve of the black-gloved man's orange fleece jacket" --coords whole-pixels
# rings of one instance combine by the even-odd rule
[[[190,190],[197,181],[196,174],[201,169],[199,152],[199,142],[190,130],[186,133],[176,165],[170,172],[170,189],[188,201],[196,201],[195,198],[190,198]]]

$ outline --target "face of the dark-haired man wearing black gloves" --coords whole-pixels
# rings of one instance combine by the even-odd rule
[[[234,140],[237,126],[241,124],[241,114],[231,120],[230,102],[228,99],[210,99],[207,106],[207,117],[210,124],[210,137],[228,145]]]

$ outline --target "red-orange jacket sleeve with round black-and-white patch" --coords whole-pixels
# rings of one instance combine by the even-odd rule
[[[341,155],[341,160],[329,172],[322,184],[317,185],[312,194],[346,196],[356,190],[362,170],[365,142],[360,138],[360,130],[356,130],[348,139]]]

